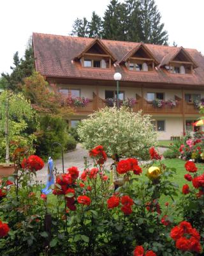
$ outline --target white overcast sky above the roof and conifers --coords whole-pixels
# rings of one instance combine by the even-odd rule
[[[204,0],[155,0],[169,43],[204,54]],[[122,0],[120,1],[122,2]],[[22,57],[33,32],[68,35],[77,17],[103,16],[110,0],[1,0],[0,73],[10,72],[13,54]]]

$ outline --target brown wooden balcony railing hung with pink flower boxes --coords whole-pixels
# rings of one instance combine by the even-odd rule
[[[164,104],[161,108],[156,108],[153,106],[152,102],[148,102],[146,99],[142,99],[142,97],[136,95],[136,103],[133,106],[133,111],[137,112],[142,109],[143,113],[150,114],[150,115],[168,115],[168,114],[175,114],[175,115],[198,115],[199,110],[198,108],[194,107],[193,103],[186,102],[179,97],[175,97],[178,101],[177,106],[170,107],[169,104]],[[97,97],[94,93],[93,99],[89,101],[87,106],[85,107],[77,107],[75,110],[77,111],[78,115],[89,115],[93,113],[93,111],[97,111],[98,109],[106,107],[106,100]]]

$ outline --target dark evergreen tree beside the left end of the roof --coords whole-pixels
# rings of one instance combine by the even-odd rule
[[[2,73],[1,76],[4,78],[4,81],[7,81],[8,89],[18,91],[20,90],[18,84],[23,82],[24,77],[31,76],[34,70],[34,52],[31,39],[27,44],[23,58],[19,59],[18,52],[15,52],[13,55],[13,65],[13,67],[10,67],[12,70],[11,74]]]

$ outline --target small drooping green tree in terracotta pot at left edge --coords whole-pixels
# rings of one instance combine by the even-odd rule
[[[10,162],[10,141],[14,132],[15,124],[24,124],[24,117],[27,120],[32,117],[32,108],[29,101],[22,93],[15,94],[4,90],[0,95],[0,130],[4,134],[6,144],[4,163],[0,163],[0,176],[8,176],[14,172],[14,166]]]

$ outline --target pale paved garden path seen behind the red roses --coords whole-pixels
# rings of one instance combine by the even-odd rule
[[[163,154],[166,148],[158,148],[159,154]],[[66,172],[67,168],[71,166],[77,166],[80,173],[84,170],[84,157],[87,157],[87,161],[92,164],[92,159],[89,157],[88,150],[82,148],[80,143],[77,144],[77,148],[71,152],[67,152],[64,154],[64,172]],[[111,158],[108,158],[105,166],[109,170],[110,164],[113,163]],[[148,163],[147,161],[141,161],[140,164]],[[54,164],[58,170],[58,172],[62,173],[62,159],[57,159],[54,161]],[[45,167],[37,172],[37,179],[38,181],[45,184],[47,182],[47,163],[45,163]]]

